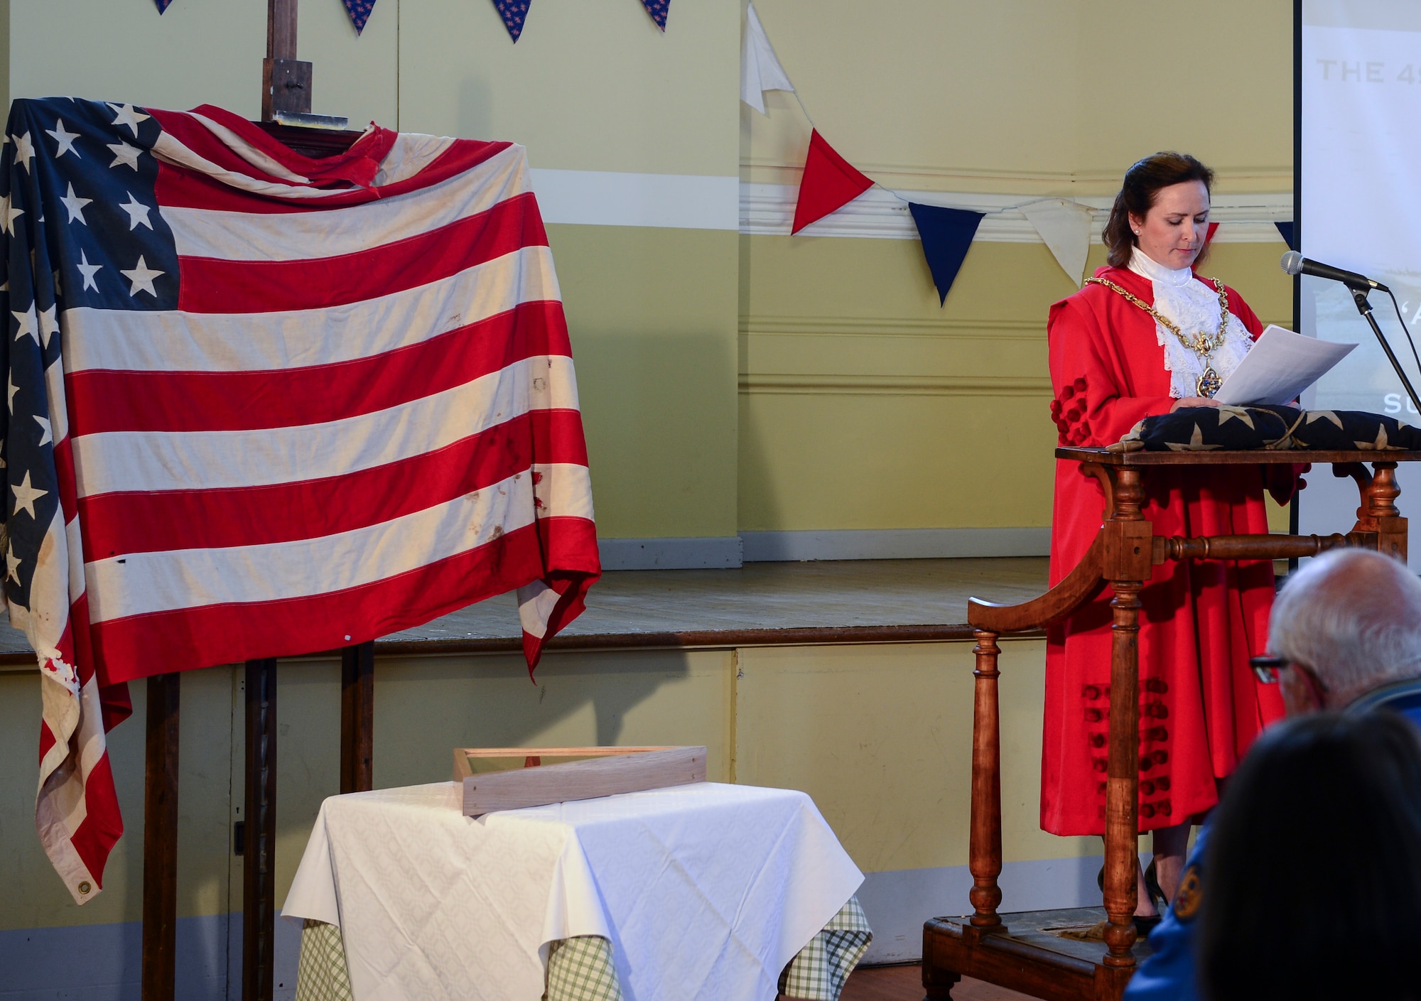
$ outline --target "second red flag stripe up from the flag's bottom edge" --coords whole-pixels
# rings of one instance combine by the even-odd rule
[[[448,503],[534,462],[587,465],[583,421],[576,410],[530,411],[436,452],[342,476],[84,498],[84,557],[260,546],[352,532]],[[253,512],[264,516],[253,518]]]

